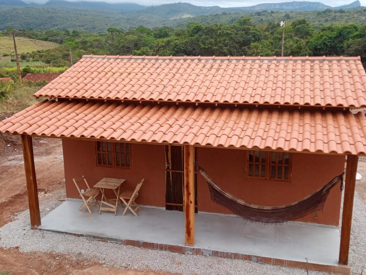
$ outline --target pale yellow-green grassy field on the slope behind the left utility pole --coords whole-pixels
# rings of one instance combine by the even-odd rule
[[[26,37],[15,37],[16,48],[18,50],[18,55],[21,53],[27,53],[32,51],[38,51],[43,49],[56,48],[57,44],[48,41],[41,41],[30,39]],[[0,36],[0,62],[10,62],[10,56],[3,56],[3,54],[10,54],[14,51],[13,39],[10,36]],[[12,62],[14,63],[14,62]],[[27,62],[28,63],[28,62]],[[15,64],[15,63],[14,63]],[[10,65],[14,66],[14,65]]]

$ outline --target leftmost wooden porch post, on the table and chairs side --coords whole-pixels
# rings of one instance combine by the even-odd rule
[[[22,135],[22,149],[24,158],[25,178],[27,182],[30,225],[37,228],[41,225],[40,206],[38,204],[38,190],[36,170],[34,168],[32,137]]]

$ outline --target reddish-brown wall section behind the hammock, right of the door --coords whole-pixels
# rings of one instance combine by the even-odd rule
[[[265,206],[286,205],[298,201],[328,183],[343,172],[344,156],[294,153],[291,182],[246,179],[244,150],[197,148],[197,160],[212,179],[225,191],[247,202]],[[205,180],[198,177],[198,211],[231,213],[210,201]],[[325,202],[323,212],[303,217],[299,221],[327,225],[339,224],[341,192],[334,187]]]

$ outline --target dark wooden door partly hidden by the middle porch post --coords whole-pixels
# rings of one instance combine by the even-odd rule
[[[195,154],[196,155],[196,154]],[[183,146],[165,145],[165,209],[184,211]],[[194,200],[197,213],[197,171],[194,175]]]

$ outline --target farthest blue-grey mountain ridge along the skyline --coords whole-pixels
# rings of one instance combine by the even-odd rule
[[[184,5],[179,5],[184,4]],[[66,0],[49,0],[46,4],[27,4],[22,0],[0,0],[0,5],[7,6],[37,6],[37,7],[53,7],[53,8],[68,8],[68,9],[82,9],[82,10],[111,10],[111,11],[140,11],[151,15],[163,15],[165,17],[174,16],[176,14],[186,14],[188,16],[199,16],[205,14],[215,14],[220,12],[243,12],[243,11],[314,11],[325,10],[327,8],[340,9],[340,8],[356,8],[360,7],[359,0],[352,2],[351,4],[331,7],[320,2],[310,1],[292,1],[284,3],[266,3],[258,4],[250,7],[233,7],[233,8],[221,8],[219,6],[195,6],[188,3],[172,3],[163,4],[159,6],[142,6],[134,3],[106,3],[106,2],[92,2],[92,1],[76,1],[70,2]],[[183,7],[183,10],[182,10]]]

